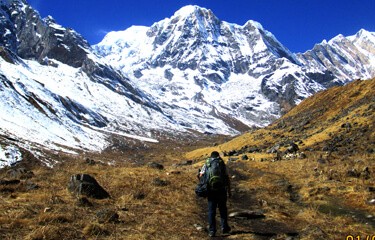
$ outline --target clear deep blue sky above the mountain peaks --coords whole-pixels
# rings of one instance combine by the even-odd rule
[[[292,52],[304,52],[323,39],[375,32],[375,0],[28,0],[42,17],[51,15],[90,44],[109,31],[151,26],[185,5],[211,9],[223,21],[260,22]]]

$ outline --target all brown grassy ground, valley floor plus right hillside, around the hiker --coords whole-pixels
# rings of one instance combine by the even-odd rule
[[[114,139],[100,154],[51,154],[59,162],[54,168],[2,169],[0,239],[206,239],[206,200],[193,189],[213,150],[225,153],[232,175],[229,212],[242,213],[230,218],[233,234],[226,239],[372,237],[374,110],[375,80],[355,81],[230,141]],[[291,143],[299,150],[286,153]],[[164,168],[150,166],[153,161]],[[78,173],[95,177],[111,198],[72,195],[67,185]]]

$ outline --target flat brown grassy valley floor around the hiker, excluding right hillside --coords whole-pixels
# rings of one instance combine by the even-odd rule
[[[17,176],[12,175],[17,167],[2,169],[0,238],[208,238],[207,203],[195,196],[194,188],[199,167],[217,147],[193,152],[190,146],[175,147],[144,151],[139,162],[126,161],[131,158],[126,153],[105,152],[67,157],[54,168],[26,167]],[[275,154],[246,155],[249,160],[224,157],[234,186],[228,201],[232,235],[225,239],[375,236],[373,155],[346,158],[312,151],[303,159],[279,161]],[[368,176],[361,174],[366,167]],[[359,174],[351,175],[350,169]],[[69,179],[78,173],[95,177],[111,198],[70,194]],[[10,182],[15,179],[20,181]],[[117,217],[103,218],[103,212]]]

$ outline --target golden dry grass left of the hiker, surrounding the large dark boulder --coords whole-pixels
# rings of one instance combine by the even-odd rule
[[[87,173],[110,193],[105,200],[89,199],[80,207],[67,190],[71,175]],[[193,194],[191,171],[168,174],[147,166],[85,165],[65,163],[34,170],[33,191],[2,192],[2,239],[198,239],[196,219],[202,215]],[[153,184],[162,179],[167,186]],[[19,186],[18,186],[19,187]],[[17,188],[14,187],[14,188]],[[118,223],[100,223],[96,212],[113,209]],[[198,222],[199,223],[199,222]]]

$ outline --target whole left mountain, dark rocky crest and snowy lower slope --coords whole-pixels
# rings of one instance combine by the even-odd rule
[[[111,134],[155,142],[153,130],[183,131],[77,32],[24,0],[0,4],[0,135],[101,150]]]

